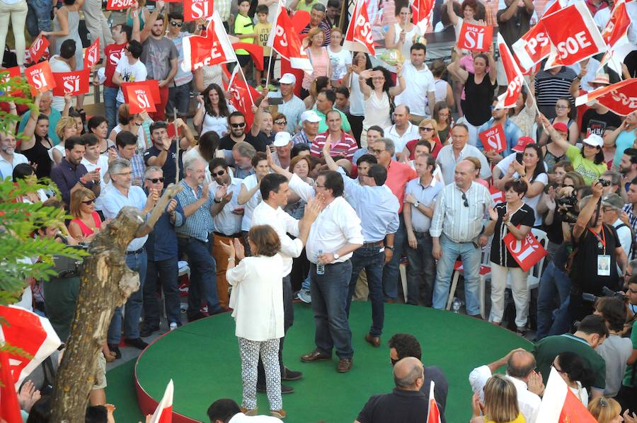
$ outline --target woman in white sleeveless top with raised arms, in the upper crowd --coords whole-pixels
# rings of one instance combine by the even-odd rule
[[[381,128],[391,127],[391,115],[394,113],[394,97],[405,90],[403,64],[396,64],[398,86],[391,81],[391,73],[383,66],[365,70],[358,75],[358,86],[365,98],[365,120],[360,135],[360,145],[367,146],[367,129],[374,125]]]

